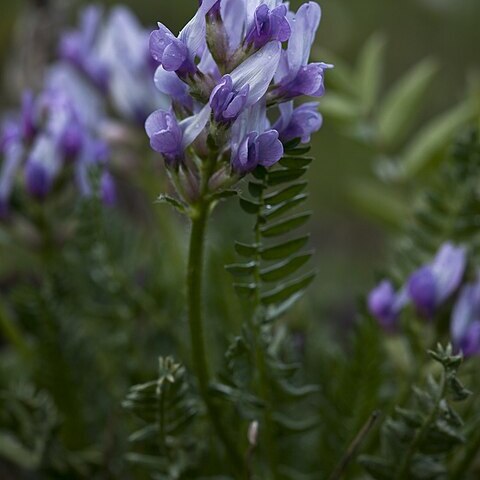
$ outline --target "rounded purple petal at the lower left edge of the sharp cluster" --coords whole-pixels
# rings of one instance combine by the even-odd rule
[[[182,130],[175,115],[157,110],[145,122],[145,130],[152,148],[169,160],[175,160],[182,154]]]

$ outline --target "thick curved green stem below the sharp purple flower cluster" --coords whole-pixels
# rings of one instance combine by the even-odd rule
[[[193,367],[198,380],[200,395],[207,407],[207,413],[210,417],[212,426],[223,443],[225,451],[228,454],[235,471],[240,475],[240,472],[244,469],[243,459],[235,448],[235,445],[222,423],[217,405],[212,401],[209,395],[211,377],[205,350],[205,333],[202,312],[202,280],[205,239],[210,212],[210,203],[205,197],[206,195],[202,195],[201,199],[193,207],[191,214],[192,229],[190,233],[190,251],[188,257],[187,303]]]

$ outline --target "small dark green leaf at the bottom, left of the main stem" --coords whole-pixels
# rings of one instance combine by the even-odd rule
[[[191,433],[198,402],[182,365],[172,357],[161,357],[158,365],[157,380],[135,385],[123,402],[145,424],[130,435],[138,452],[130,452],[127,460],[150,470],[157,480],[191,478],[199,447]]]

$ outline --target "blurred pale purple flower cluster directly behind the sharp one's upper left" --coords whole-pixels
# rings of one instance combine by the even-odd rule
[[[62,36],[59,55],[108,96],[122,118],[143,125],[153,110],[168,105],[152,80],[149,33],[125,7],[104,15],[89,6],[79,28]]]

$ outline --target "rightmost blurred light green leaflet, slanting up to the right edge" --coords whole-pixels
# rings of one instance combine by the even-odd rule
[[[432,167],[458,130],[474,118],[475,110],[475,105],[466,101],[427,124],[407,147],[401,160],[400,178],[410,179]]]

